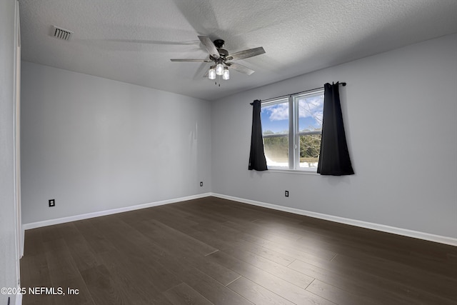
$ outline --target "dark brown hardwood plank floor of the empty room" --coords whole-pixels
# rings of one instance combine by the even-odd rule
[[[21,286],[56,289],[25,305],[451,305],[457,247],[206,197],[28,230]]]

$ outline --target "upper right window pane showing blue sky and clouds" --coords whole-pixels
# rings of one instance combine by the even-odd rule
[[[298,101],[298,131],[322,130],[323,92],[300,96]]]

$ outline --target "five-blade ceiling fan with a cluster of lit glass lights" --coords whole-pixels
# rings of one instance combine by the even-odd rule
[[[222,39],[216,39],[211,41],[207,36],[199,36],[199,39],[202,44],[206,47],[206,50],[209,53],[209,59],[170,59],[171,61],[191,61],[191,62],[210,62],[214,63],[211,65],[210,69],[206,72],[204,77],[208,76],[209,79],[216,79],[216,75],[222,76],[222,79],[227,80],[230,78],[229,67],[235,71],[241,72],[243,74],[251,75],[254,73],[252,69],[249,69],[247,66],[241,64],[236,64],[231,61],[238,59],[247,59],[252,56],[257,56],[264,54],[265,50],[263,47],[259,46],[258,48],[247,49],[244,51],[238,51],[233,54],[229,54],[224,47],[225,41]]]

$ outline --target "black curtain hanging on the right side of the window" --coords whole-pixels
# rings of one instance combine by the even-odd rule
[[[323,121],[321,153],[317,172],[321,175],[352,175],[348,144],[344,133],[338,82],[323,86]]]

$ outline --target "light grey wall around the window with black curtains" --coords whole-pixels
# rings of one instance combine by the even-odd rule
[[[356,174],[248,171],[249,103],[332,81],[348,84],[340,92]],[[216,194],[457,238],[457,35],[229,96],[211,116]]]

